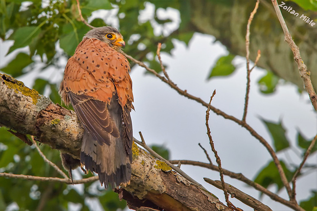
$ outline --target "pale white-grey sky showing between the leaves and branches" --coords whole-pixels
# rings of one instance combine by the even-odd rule
[[[178,21],[178,19],[175,18],[175,21]],[[164,30],[163,33],[165,33]],[[207,81],[206,78],[215,61],[220,56],[227,54],[224,46],[214,41],[214,37],[198,33],[195,33],[188,47],[183,42],[174,40],[175,49],[172,51],[172,56],[162,53],[162,60],[168,66],[167,72],[170,78],[180,88],[187,89],[189,93],[206,102],[209,102],[213,90],[216,89],[217,93],[212,105],[241,119],[246,84],[245,58],[236,57],[234,59],[234,63],[239,68],[230,77],[215,78]],[[8,58],[4,58],[4,56],[9,46],[13,43],[0,41],[0,44],[0,66],[3,66],[8,61]],[[61,65],[66,64],[66,61],[61,60],[60,62]],[[31,87],[35,78],[46,78],[53,82],[60,81],[62,73],[63,69],[57,71],[51,68],[42,73],[34,71],[31,74],[20,77],[19,80]],[[142,131],[148,145],[163,144],[170,149],[171,159],[208,162],[205,154],[198,146],[198,143],[200,143],[208,150],[210,157],[215,163],[206,134],[206,108],[178,95],[176,91],[169,88],[159,79],[144,73],[145,69],[138,66],[135,66],[131,72],[135,101],[135,112],[132,111],[131,114],[134,137],[140,139],[138,132]],[[255,68],[251,74],[247,123],[270,144],[271,138],[260,121],[260,117],[274,122],[282,120],[292,146],[297,145],[296,133],[298,130],[311,139],[317,133],[317,116],[313,111],[308,95],[306,93],[300,95],[297,91],[298,88],[290,83],[278,86],[273,95],[262,95],[258,91],[257,81],[264,75],[265,71],[260,68]],[[49,93],[49,91],[47,92]],[[268,152],[259,141],[239,125],[232,121],[224,120],[212,111],[209,124],[215,148],[221,158],[223,168],[242,173],[247,178],[253,179],[257,172],[271,160]],[[299,165],[301,161],[298,159],[297,154],[290,150],[280,152],[278,156],[284,161],[296,163],[296,165]],[[317,163],[316,153],[309,157],[307,163]],[[217,172],[186,165],[182,165],[182,169],[224,202],[223,192],[202,179],[203,177],[208,177],[219,180]],[[229,177],[224,179],[241,191],[258,198],[259,192],[247,187],[244,183]],[[307,199],[310,196],[311,189],[317,189],[316,172],[298,179],[297,200]],[[271,187],[269,190],[275,192],[276,189]],[[286,199],[288,198],[284,189],[279,195]],[[238,200],[230,200],[235,206],[243,210],[253,210]],[[273,210],[290,209],[266,196],[261,201]]]

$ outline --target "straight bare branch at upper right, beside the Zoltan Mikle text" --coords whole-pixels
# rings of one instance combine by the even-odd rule
[[[304,82],[305,90],[308,92],[310,102],[311,102],[312,106],[314,107],[315,111],[317,111],[317,96],[316,96],[316,92],[315,92],[315,90],[312,86],[311,80],[310,80],[310,71],[308,71],[307,66],[305,65],[304,61],[302,60],[298,46],[296,45],[296,43],[293,41],[291,35],[289,34],[289,31],[288,31],[287,26],[286,26],[286,22],[283,18],[283,15],[281,13],[281,10],[278,6],[277,1],[276,0],[271,0],[271,1],[273,3],[275,12],[277,14],[277,17],[278,17],[278,19],[281,23],[282,29],[284,31],[285,41],[288,43],[291,51],[294,54],[294,60],[296,61],[297,65],[298,65],[300,76]],[[287,191],[289,192],[288,194],[290,194],[290,188],[289,188],[289,190],[287,189]]]

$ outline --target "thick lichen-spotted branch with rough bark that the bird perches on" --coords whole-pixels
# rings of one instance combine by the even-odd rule
[[[79,158],[83,128],[75,112],[0,74],[0,126]],[[132,178],[116,190],[135,210],[230,210],[213,194],[180,176],[133,143]]]

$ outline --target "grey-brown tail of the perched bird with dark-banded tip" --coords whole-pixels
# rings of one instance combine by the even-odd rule
[[[110,145],[100,145],[97,140],[86,131],[82,139],[80,162],[86,170],[96,172],[101,185],[107,189],[108,184],[112,189],[126,186],[130,183],[131,164],[122,137],[111,136]]]

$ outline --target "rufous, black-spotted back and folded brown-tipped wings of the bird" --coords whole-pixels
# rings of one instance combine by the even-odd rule
[[[109,145],[109,134],[120,136],[107,108],[112,97],[118,96],[125,113],[133,108],[129,70],[129,63],[122,54],[104,42],[89,38],[78,45],[74,56],[66,64],[60,92],[66,93],[85,130],[99,144]],[[67,100],[64,101],[67,103]],[[131,120],[127,114],[123,115],[125,130],[130,134]]]

